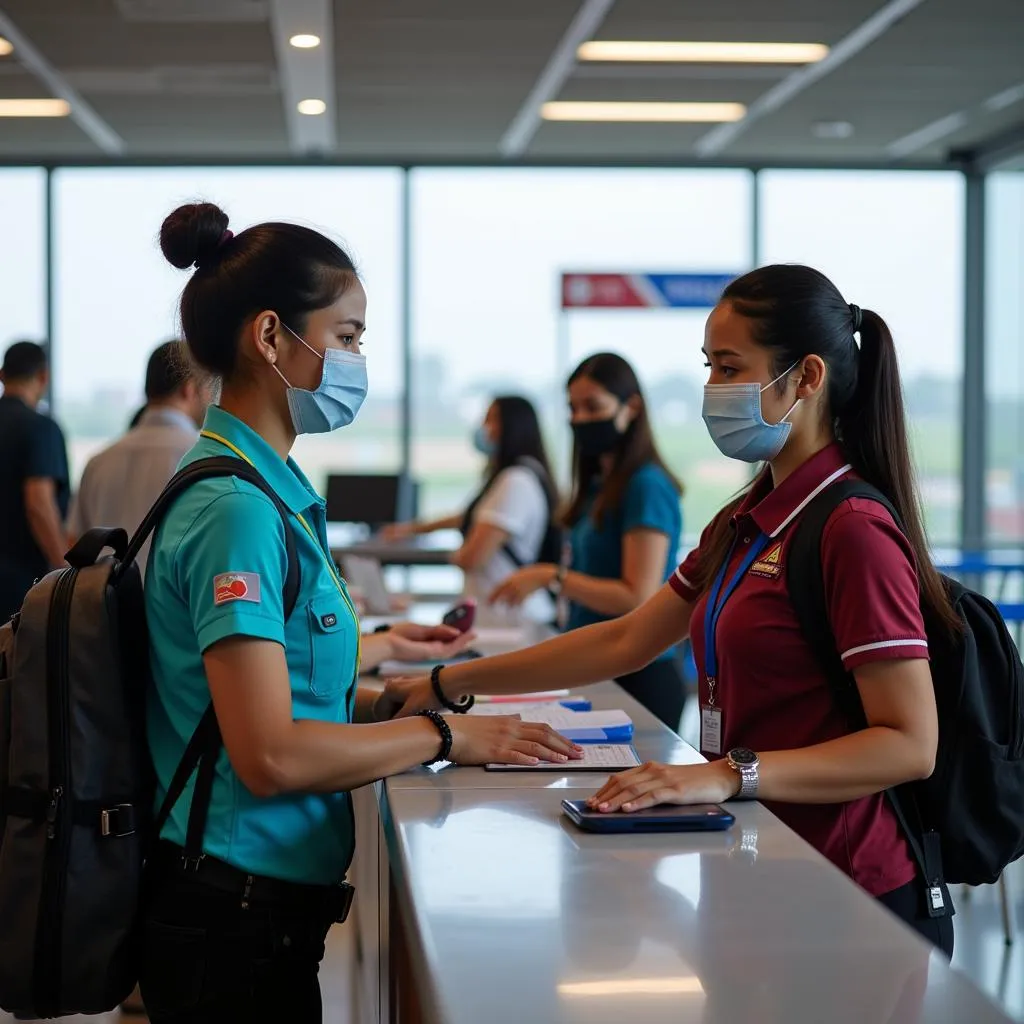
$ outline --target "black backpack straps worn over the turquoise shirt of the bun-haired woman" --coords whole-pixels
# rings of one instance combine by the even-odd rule
[[[178,496],[200,480],[221,476],[234,476],[258,487],[270,499],[281,515],[285,526],[285,548],[288,554],[288,568],[285,572],[284,586],[285,618],[287,621],[295,610],[301,586],[298,551],[295,546],[295,535],[291,527],[290,513],[285,503],[266,482],[262,474],[254,466],[242,459],[237,459],[234,456],[200,459],[175,473],[129,542],[124,561],[127,564],[135,558],[146,538],[157,528]],[[185,837],[185,858],[188,862],[198,862],[203,855],[203,835],[210,811],[210,796],[213,791],[217,756],[222,743],[220,726],[211,701],[181,755],[181,760],[178,762],[170,785],[167,787],[164,802],[154,821],[152,836],[153,842],[156,843],[160,839],[160,833],[167,823],[171,811],[181,798],[181,794],[184,793],[188,779],[191,778],[198,767],[199,773],[196,777],[191,806],[188,809],[188,826]]]

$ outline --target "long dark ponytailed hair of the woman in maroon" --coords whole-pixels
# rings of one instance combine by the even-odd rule
[[[737,278],[722,295],[752,322],[754,340],[772,353],[775,376],[817,355],[828,370],[825,415],[857,474],[893,504],[913,550],[926,617],[961,631],[932,563],[910,458],[903,389],[892,334],[870,309],[847,303],[839,289],[810,267],[775,264]],[[860,344],[857,344],[857,337]],[[785,381],[776,385],[785,389]],[[764,470],[770,472],[769,469]],[[757,486],[759,477],[751,486]],[[694,585],[706,589],[727,557],[730,519],[751,487],[723,509],[703,544]]]

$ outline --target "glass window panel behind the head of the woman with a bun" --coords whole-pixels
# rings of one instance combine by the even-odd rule
[[[119,434],[141,401],[145,361],[177,333],[187,275],[157,238],[164,217],[197,197],[231,228],[306,224],[353,256],[369,297],[370,396],[342,433],[301,437],[295,455],[324,486],[329,472],[393,472],[400,434],[401,172],[393,168],[69,169],[56,172],[56,399],[73,474]]]

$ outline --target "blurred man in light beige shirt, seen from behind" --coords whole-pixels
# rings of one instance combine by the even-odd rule
[[[99,526],[123,526],[130,537],[186,452],[196,443],[210,388],[194,372],[179,341],[160,345],[145,371],[145,407],[135,425],[85,467],[69,519],[70,543]],[[138,557],[145,578],[147,541]]]

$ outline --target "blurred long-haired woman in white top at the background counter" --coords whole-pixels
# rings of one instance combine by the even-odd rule
[[[395,523],[383,536],[404,540],[435,529],[461,529],[463,544],[452,561],[466,573],[466,595],[482,603],[523,565],[559,561],[561,541],[554,524],[558,495],[532,403],[518,395],[496,398],[473,443],[487,457],[487,467],[469,507],[431,522]],[[538,591],[520,612],[529,622],[551,623],[554,601],[548,592]]]

